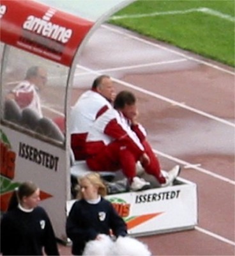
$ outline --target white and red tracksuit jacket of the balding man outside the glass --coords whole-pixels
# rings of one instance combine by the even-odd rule
[[[76,160],[86,159],[87,132],[103,111],[112,108],[110,102],[93,90],[82,93],[71,111],[71,147]]]

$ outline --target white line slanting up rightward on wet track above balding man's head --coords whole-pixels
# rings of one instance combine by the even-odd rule
[[[123,67],[118,67],[118,68],[105,68],[105,69],[100,69],[98,70],[98,72],[101,73],[105,73],[105,72],[112,72],[112,71],[118,71],[118,70],[128,70],[128,69],[133,69],[133,68],[142,68],[142,67],[152,67],[152,66],[157,66],[157,65],[165,65],[165,64],[174,64],[174,63],[179,63],[179,62],[183,62],[183,61],[188,61],[186,60],[186,58],[183,59],[178,59],[178,60],[169,60],[169,61],[159,61],[159,62],[153,62],[153,63],[146,63],[146,64],[139,64],[139,65],[130,65],[130,66],[123,66]],[[79,67],[77,65],[77,67]],[[78,73],[75,74],[75,76],[84,76],[85,74],[87,74],[87,72],[85,73]]]

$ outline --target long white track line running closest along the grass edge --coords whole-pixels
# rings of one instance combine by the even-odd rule
[[[129,37],[129,38],[131,38],[133,40],[137,40],[137,41],[142,42],[144,44],[148,44],[148,45],[151,45],[153,47],[160,48],[160,49],[163,49],[163,50],[168,51],[168,52],[172,52],[172,53],[174,53],[174,54],[176,54],[178,56],[182,56],[183,58],[186,58],[187,60],[192,60],[192,61],[204,64],[204,65],[206,65],[208,67],[215,68],[215,69],[220,70],[222,72],[225,72],[227,74],[231,74],[232,76],[235,76],[235,72],[233,72],[231,70],[219,67],[218,65],[209,63],[208,61],[204,61],[204,60],[200,60],[200,59],[197,59],[197,58],[193,58],[193,57],[191,57],[191,56],[189,56],[187,54],[184,54],[182,52],[170,49],[169,47],[165,47],[165,46],[157,44],[157,43],[149,42],[149,41],[144,40],[143,38],[139,38],[139,37],[137,37],[135,35],[130,35],[129,33],[126,33],[125,31],[123,31],[123,29],[117,29],[117,28],[114,28],[114,27],[111,28],[111,26],[108,26],[108,25],[102,25],[102,28],[105,28],[105,29],[110,30],[110,31],[112,31],[114,33],[118,33],[120,35]]]

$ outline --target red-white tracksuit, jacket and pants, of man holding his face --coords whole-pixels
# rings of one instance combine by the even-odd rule
[[[94,171],[116,171],[121,168],[132,180],[136,176],[136,163],[140,156],[148,154],[150,163],[144,170],[165,183],[160,164],[146,141],[142,125],[130,125],[123,114],[116,109],[107,109],[90,127],[86,139],[86,163]]]

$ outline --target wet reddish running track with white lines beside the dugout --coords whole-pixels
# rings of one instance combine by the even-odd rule
[[[109,74],[118,91],[137,95],[140,122],[163,170],[181,164],[181,177],[198,186],[195,230],[140,240],[153,255],[235,255],[234,70],[110,26],[89,40],[79,65],[86,74],[75,85],[82,89]],[[71,255],[69,246],[59,248]]]

